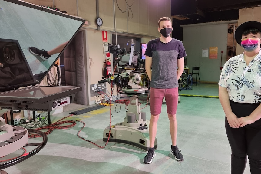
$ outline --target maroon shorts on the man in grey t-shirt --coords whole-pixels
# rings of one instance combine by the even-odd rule
[[[157,89],[150,88],[150,113],[158,115],[161,113],[163,98],[165,97],[167,113],[175,115],[177,113],[179,90],[178,88]]]

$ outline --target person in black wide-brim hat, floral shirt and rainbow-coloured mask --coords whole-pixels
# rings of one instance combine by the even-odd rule
[[[245,50],[223,66],[219,99],[226,114],[225,127],[231,146],[231,174],[243,174],[246,155],[251,174],[261,173],[261,23],[239,25],[235,39]]]

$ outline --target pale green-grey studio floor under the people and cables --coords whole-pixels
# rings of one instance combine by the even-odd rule
[[[166,105],[157,125],[156,156],[151,164],[144,164],[143,158],[147,152],[133,146],[108,143],[104,148],[84,141],[77,137],[83,126],[77,124],[64,130],[54,130],[48,135],[48,143],[36,155],[5,168],[8,174],[229,174],[231,149],[225,132],[225,114],[218,96],[218,84],[197,84],[192,90],[181,90],[180,104],[177,110],[177,146],[181,149],[184,161],[178,162],[169,154],[171,139]],[[193,97],[191,97],[193,96]],[[146,103],[142,104],[145,107]],[[69,113],[86,108],[83,105],[70,104],[64,107],[64,112],[51,116],[52,123]],[[112,125],[123,122],[125,117],[124,104],[111,106]],[[150,106],[142,111],[150,119]],[[97,109],[78,116],[70,116],[65,120],[81,120],[86,125],[80,136],[104,146],[103,131],[109,126],[110,107]],[[41,138],[29,139],[38,142]],[[28,149],[29,150],[29,149]],[[5,156],[11,158],[21,155],[23,151]],[[250,174],[247,163],[244,174]]]

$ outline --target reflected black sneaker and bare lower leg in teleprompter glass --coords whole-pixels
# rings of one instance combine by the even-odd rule
[[[53,54],[56,53],[61,53],[61,51],[64,49],[64,47],[68,44],[67,42],[64,42],[60,45],[58,45],[57,47],[55,47],[54,49],[50,50],[50,51],[45,51],[45,50],[39,50],[38,48],[35,47],[29,47],[29,51],[37,56],[40,56],[44,61],[46,61],[48,58],[50,58]]]

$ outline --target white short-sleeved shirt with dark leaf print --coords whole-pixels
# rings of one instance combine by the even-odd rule
[[[261,51],[246,65],[244,53],[223,66],[219,86],[226,87],[229,99],[238,103],[261,102]]]

